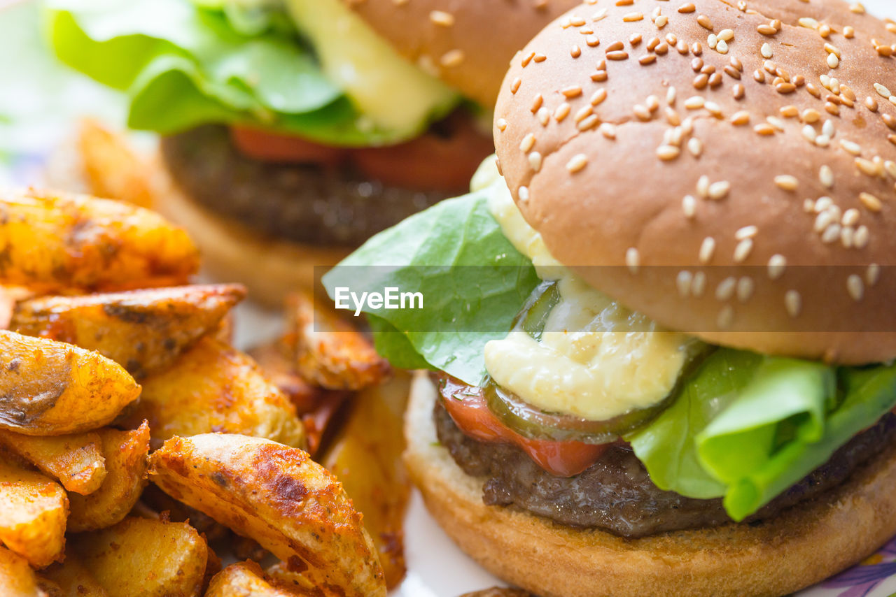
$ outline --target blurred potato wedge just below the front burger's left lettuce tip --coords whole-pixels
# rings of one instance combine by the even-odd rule
[[[295,352],[296,371],[328,389],[361,389],[389,376],[390,367],[364,334],[340,319],[336,311],[310,294],[287,301],[288,332],[284,341]]]

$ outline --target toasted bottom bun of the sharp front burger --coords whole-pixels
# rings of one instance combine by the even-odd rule
[[[896,447],[835,490],[761,525],[623,539],[482,503],[435,437],[435,386],[411,387],[405,462],[439,525],[496,576],[544,597],[782,595],[866,558],[896,533]]]

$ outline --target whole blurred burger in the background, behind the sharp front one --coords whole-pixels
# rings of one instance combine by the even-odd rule
[[[278,303],[464,190],[508,61],[575,4],[50,0],[47,35],[162,135],[157,208],[211,273]]]

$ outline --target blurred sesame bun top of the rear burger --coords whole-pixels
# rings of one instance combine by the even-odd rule
[[[343,0],[401,55],[495,105],[513,53],[581,0]]]

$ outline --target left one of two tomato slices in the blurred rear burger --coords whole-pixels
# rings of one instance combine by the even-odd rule
[[[348,154],[347,149],[340,147],[329,147],[299,137],[245,126],[230,127],[230,139],[247,158],[266,162],[337,166]]]

